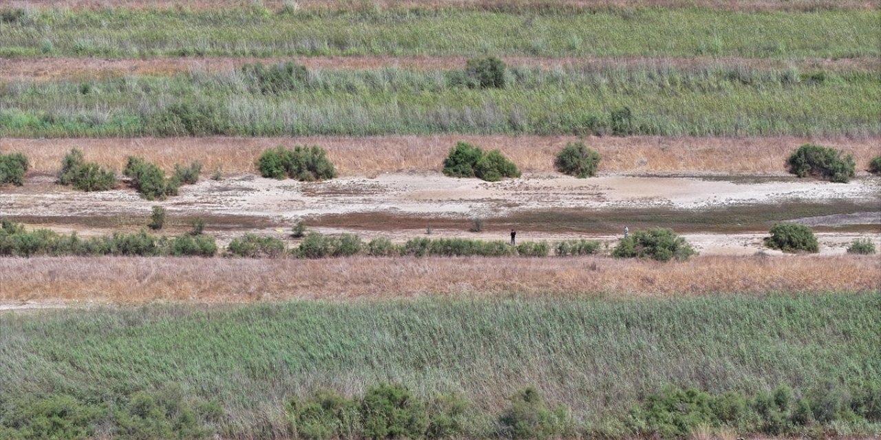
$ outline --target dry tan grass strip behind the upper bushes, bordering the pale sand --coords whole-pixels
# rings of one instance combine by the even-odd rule
[[[858,170],[868,168],[881,153],[881,138],[664,137],[629,136],[308,136],[308,137],[172,137],[126,139],[0,139],[0,152],[20,151],[33,172],[55,173],[64,153],[73,147],[85,158],[121,170],[129,155],[143,156],[167,171],[175,163],[201,161],[204,170],[256,172],[255,161],[268,148],[318,144],[344,176],[382,172],[440,172],[443,159],[457,141],[499,149],[523,172],[553,172],[556,154],[568,142],[583,140],[599,150],[603,173],[783,174],[789,154],[803,143],[820,143],[854,156]]]

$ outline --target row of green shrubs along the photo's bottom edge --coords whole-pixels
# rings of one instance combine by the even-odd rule
[[[807,392],[779,386],[772,392],[711,394],[667,385],[648,394],[629,414],[596,425],[574,420],[565,406],[552,406],[534,387],[515,392],[507,407],[489,423],[459,395],[424,399],[402,385],[368,387],[346,397],[320,390],[285,405],[287,433],[308,440],[332,438],[515,438],[560,437],[685,438],[701,431],[731,430],[739,435],[825,437],[847,423],[871,431],[881,422],[881,383],[841,387],[819,385]],[[4,402],[0,407],[3,438],[82,439],[207,438],[225,417],[218,404],[184,399],[179,387],[136,392],[122,402],[94,403],[56,394]],[[479,426],[479,428],[477,428]],[[834,435],[834,434],[833,434]]]

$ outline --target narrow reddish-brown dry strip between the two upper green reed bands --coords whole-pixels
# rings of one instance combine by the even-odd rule
[[[578,66],[580,69],[603,70],[612,65],[625,68],[672,66],[679,69],[700,69],[707,66],[750,69],[800,70],[878,70],[881,60],[872,57],[808,59],[781,61],[763,58],[711,57],[617,57],[617,58],[540,58],[503,57],[511,66]],[[467,57],[432,56],[300,56],[300,57],[200,57],[200,58],[15,58],[0,63],[0,81],[56,81],[63,79],[88,80],[93,78],[135,76],[169,76],[188,72],[226,72],[245,63],[299,62],[309,69],[381,69],[400,67],[415,70],[448,70],[464,66]]]

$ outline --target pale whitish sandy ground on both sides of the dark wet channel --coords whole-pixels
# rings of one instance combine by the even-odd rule
[[[34,176],[24,187],[4,187],[0,214],[4,216],[48,217],[41,226],[58,231],[78,231],[85,235],[117,229],[137,230],[152,206],[163,206],[168,216],[204,216],[209,219],[239,218],[242,224],[217,228],[209,233],[225,243],[243,231],[257,231],[286,237],[289,226],[316,216],[377,213],[387,216],[418,216],[437,219],[433,237],[504,239],[498,228],[473,233],[467,227],[445,227],[455,219],[467,225],[470,218],[509,216],[528,211],[566,209],[706,209],[760,204],[777,209],[784,202],[824,202],[847,200],[877,206],[868,212],[849,215],[815,216],[800,219],[812,226],[881,224],[881,179],[862,178],[848,184],[791,177],[633,177],[604,175],[593,179],[574,179],[559,174],[526,174],[521,179],[484,182],[454,179],[440,173],[380,174],[374,179],[342,178],[319,183],[263,179],[244,175],[224,180],[201,180],[181,187],[180,195],[164,202],[141,199],[126,187],[112,191],[82,193],[58,186],[49,175]],[[79,217],[81,221],[53,222],[51,218]],[[126,224],[112,224],[109,217],[132,218]],[[96,218],[104,225],[90,228]],[[222,221],[222,220],[218,220]],[[111,224],[107,224],[107,223]],[[622,227],[626,218],[621,219]],[[57,223],[57,224],[53,224]],[[233,222],[234,223],[234,222]],[[427,226],[431,226],[430,224]],[[426,226],[426,227],[427,227]],[[345,228],[318,228],[340,233]],[[389,237],[405,241],[425,235],[426,229],[395,227],[392,224],[354,230],[363,238]],[[875,230],[873,230],[875,231]],[[615,236],[592,231],[522,231],[521,239],[557,240],[595,238],[614,241]],[[685,234],[693,246],[705,254],[752,254],[763,250],[762,233],[714,233],[691,231]],[[875,232],[832,231],[818,233],[821,253],[839,254],[854,238],[871,238],[881,247]],[[765,251],[776,253],[774,251]]]

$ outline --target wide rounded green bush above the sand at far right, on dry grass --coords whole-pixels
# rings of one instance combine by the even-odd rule
[[[805,143],[787,159],[789,172],[798,177],[814,176],[833,182],[847,183],[855,176],[854,157],[842,151]]]

